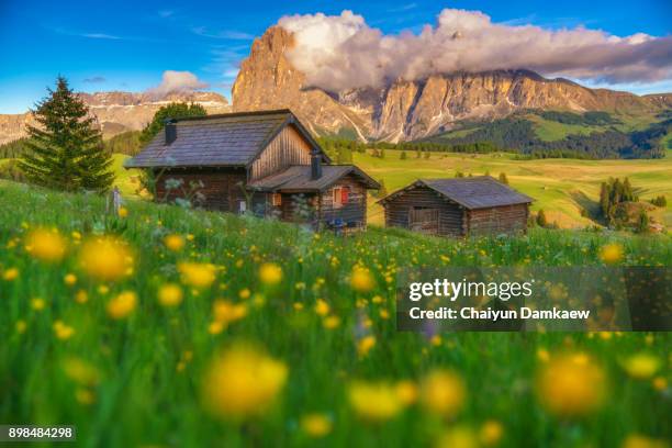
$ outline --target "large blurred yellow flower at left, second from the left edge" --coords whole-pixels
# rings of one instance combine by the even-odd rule
[[[102,236],[89,239],[79,255],[81,268],[102,281],[114,281],[133,272],[133,257],[120,239]]]

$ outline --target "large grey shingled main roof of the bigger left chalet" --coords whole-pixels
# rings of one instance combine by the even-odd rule
[[[160,132],[126,168],[248,166],[287,125],[323,154],[320,145],[288,110],[238,112],[177,119],[177,138],[166,145]]]

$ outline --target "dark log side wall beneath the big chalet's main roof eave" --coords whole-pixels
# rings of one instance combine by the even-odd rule
[[[190,193],[190,182],[201,181],[203,188],[199,188],[198,191],[204,195],[204,202],[199,205],[209,210],[237,213],[239,202],[245,201],[245,194],[238,183],[245,184],[246,177],[244,168],[166,170],[157,179],[156,200],[172,202],[176,198],[184,198]],[[168,191],[166,189],[168,179],[181,179],[182,187]]]

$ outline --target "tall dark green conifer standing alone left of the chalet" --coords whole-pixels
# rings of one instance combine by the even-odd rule
[[[59,76],[56,90],[36,104],[38,126],[27,126],[27,153],[19,167],[30,182],[66,191],[107,191],[114,181],[96,119]]]

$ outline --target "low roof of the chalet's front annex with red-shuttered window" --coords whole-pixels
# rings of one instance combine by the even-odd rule
[[[367,188],[380,188],[377,181],[354,165],[323,165],[322,176],[315,180],[311,179],[310,165],[294,165],[284,171],[253,181],[247,187],[258,191],[323,191],[350,173],[360,178]]]

